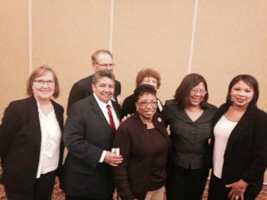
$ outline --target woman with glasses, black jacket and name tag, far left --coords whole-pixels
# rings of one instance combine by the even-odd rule
[[[59,91],[53,70],[41,66],[28,79],[30,97],[11,102],[5,110],[0,126],[0,181],[9,200],[51,199],[64,150],[64,109],[51,100]]]

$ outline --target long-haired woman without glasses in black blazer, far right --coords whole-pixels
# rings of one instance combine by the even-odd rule
[[[267,114],[257,108],[258,83],[238,75],[215,115],[208,199],[255,199],[267,166]]]

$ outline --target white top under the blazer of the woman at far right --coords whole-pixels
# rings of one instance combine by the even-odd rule
[[[218,178],[222,177],[225,149],[228,139],[237,123],[222,115],[214,127],[213,174]]]

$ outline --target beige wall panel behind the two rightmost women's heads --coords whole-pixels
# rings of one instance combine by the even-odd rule
[[[266,22],[266,1],[199,2],[192,70],[206,77],[214,104],[225,101],[233,77],[251,74],[267,111]]]

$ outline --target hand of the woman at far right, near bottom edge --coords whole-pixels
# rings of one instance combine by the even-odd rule
[[[231,198],[231,200],[239,198],[244,200],[244,192],[247,186],[249,186],[249,184],[244,182],[242,179],[240,179],[238,182],[226,185],[226,188],[232,188],[228,194],[228,198]]]

